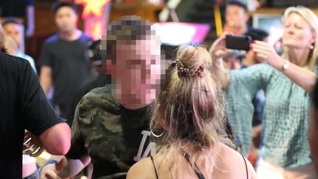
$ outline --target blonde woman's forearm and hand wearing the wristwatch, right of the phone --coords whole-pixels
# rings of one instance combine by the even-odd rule
[[[276,53],[273,46],[266,42],[255,41],[255,43],[252,44],[252,50],[256,53],[256,56],[266,60],[269,65],[277,68],[278,70],[283,69],[284,59]],[[317,75],[312,71],[289,63],[289,68],[282,71],[282,73],[307,92],[311,93],[313,91]]]

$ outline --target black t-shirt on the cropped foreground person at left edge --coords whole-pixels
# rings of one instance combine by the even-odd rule
[[[61,122],[30,63],[0,52],[0,179],[22,179],[24,129],[40,135]]]

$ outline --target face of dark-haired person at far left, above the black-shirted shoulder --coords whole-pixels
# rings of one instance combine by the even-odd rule
[[[5,36],[11,37],[17,46],[22,39],[22,26],[16,23],[7,23],[3,26]]]

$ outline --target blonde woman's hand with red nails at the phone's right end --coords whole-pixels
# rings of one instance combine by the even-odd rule
[[[267,63],[278,70],[283,68],[284,60],[276,53],[275,48],[263,41],[253,41],[250,48],[256,54],[256,57],[267,61]]]

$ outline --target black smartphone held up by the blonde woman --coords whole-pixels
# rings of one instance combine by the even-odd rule
[[[250,43],[252,43],[252,38],[247,35],[227,35],[226,38],[226,47],[228,49],[249,51]]]

